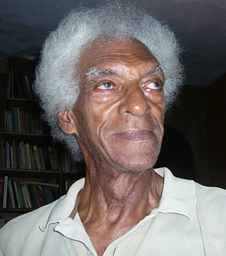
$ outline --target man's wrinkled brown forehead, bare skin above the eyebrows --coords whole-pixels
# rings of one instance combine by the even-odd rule
[[[97,39],[83,50],[77,68],[83,80],[87,72],[101,65],[121,63],[133,67],[145,61],[159,66],[149,48],[138,39]]]

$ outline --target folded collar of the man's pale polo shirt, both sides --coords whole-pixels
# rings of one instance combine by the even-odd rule
[[[176,178],[166,167],[155,169],[154,171],[164,178],[163,193],[159,202],[158,212],[181,214],[192,220],[197,204],[194,181]],[[46,231],[49,224],[61,223],[70,216],[76,203],[77,194],[84,187],[84,184],[85,178],[77,180],[70,187],[67,195],[59,198],[50,213],[46,226],[39,227],[42,231]]]

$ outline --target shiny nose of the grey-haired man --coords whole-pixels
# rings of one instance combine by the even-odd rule
[[[119,114],[130,113],[134,116],[144,116],[150,111],[148,99],[145,97],[138,83],[130,83],[123,101],[119,105]]]

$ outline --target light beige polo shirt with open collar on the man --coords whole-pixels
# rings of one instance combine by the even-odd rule
[[[155,171],[164,177],[158,209],[103,255],[226,255],[226,191],[176,178],[167,168]],[[78,180],[66,196],[8,222],[0,229],[0,255],[97,256],[79,215],[68,217],[83,186]]]

